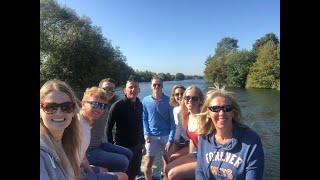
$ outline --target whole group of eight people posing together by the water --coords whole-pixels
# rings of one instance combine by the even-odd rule
[[[174,85],[169,97],[155,75],[140,101],[138,82],[127,80],[122,98],[115,85],[103,79],[81,101],[63,81],[41,87],[40,179],[134,180],[144,156],[151,180],[160,153],[164,179],[263,178],[260,137],[241,123],[232,92]]]

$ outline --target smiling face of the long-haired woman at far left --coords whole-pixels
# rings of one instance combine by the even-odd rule
[[[72,102],[71,98],[62,91],[54,90],[44,97],[41,104],[61,104],[66,102]],[[61,107],[57,108],[55,112],[48,114],[40,105],[40,116],[43,124],[48,128],[53,137],[58,137],[57,140],[61,139],[64,130],[70,125],[74,115],[73,111],[62,111]]]

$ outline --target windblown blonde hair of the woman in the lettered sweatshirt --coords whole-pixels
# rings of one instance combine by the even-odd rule
[[[206,94],[206,98],[203,103],[201,113],[197,115],[198,120],[199,120],[198,121],[199,122],[198,135],[206,136],[206,135],[209,135],[215,131],[214,124],[213,124],[212,120],[210,120],[210,118],[208,117],[209,116],[208,115],[208,106],[209,106],[210,102],[216,97],[224,97],[230,102],[230,104],[233,108],[233,110],[232,110],[232,113],[233,113],[232,124],[239,124],[240,126],[242,126],[244,128],[249,128],[240,122],[241,110],[240,110],[240,107],[238,105],[238,102],[237,102],[233,92],[225,90],[225,87],[224,86],[220,87],[219,84],[214,84],[214,86],[209,87],[209,89],[211,89],[211,90],[209,90]]]

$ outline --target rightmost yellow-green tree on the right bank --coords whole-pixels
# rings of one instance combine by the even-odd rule
[[[257,61],[252,65],[246,87],[280,88],[280,48],[266,44],[260,50]]]

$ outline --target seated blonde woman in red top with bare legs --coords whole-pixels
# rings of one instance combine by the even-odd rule
[[[166,169],[168,179],[195,179],[195,169],[197,166],[196,152],[198,146],[197,118],[196,114],[200,112],[203,103],[203,93],[197,86],[187,87],[183,94],[183,102],[180,104],[180,118],[182,127],[190,139],[189,151],[170,162]]]

